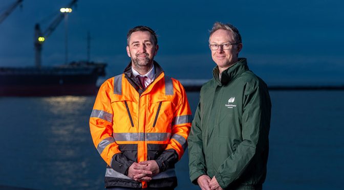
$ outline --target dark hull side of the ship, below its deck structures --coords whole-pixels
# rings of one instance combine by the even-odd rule
[[[97,93],[97,75],[0,76],[0,96],[87,96]]]

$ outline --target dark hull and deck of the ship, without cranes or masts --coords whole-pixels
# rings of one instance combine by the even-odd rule
[[[52,67],[0,67],[0,96],[88,96],[106,63],[71,62]]]

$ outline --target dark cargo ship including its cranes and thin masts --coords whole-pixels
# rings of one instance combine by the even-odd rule
[[[0,13],[0,23],[13,10],[22,6],[23,0],[16,0]],[[79,61],[68,63],[67,32],[66,61],[59,66],[41,66],[42,45],[53,33],[59,23],[72,12],[77,0],[61,8],[46,30],[41,31],[39,23],[35,25],[34,47],[35,66],[0,67],[0,97],[3,96],[85,96],[97,92],[97,79],[105,76],[105,63]],[[66,28],[67,29],[67,28]],[[90,36],[88,34],[88,59],[90,60]]]

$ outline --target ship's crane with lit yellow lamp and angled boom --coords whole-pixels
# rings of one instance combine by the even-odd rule
[[[41,65],[41,52],[42,45],[47,40],[47,38],[54,32],[59,23],[67,16],[68,13],[72,12],[71,7],[77,3],[77,0],[72,0],[66,8],[61,8],[60,13],[55,17],[55,19],[50,23],[49,27],[42,32],[40,30],[39,23],[35,25],[35,36],[34,36],[34,47],[35,47],[35,65],[40,68]]]

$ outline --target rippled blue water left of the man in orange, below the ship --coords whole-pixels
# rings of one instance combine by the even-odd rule
[[[105,164],[90,135],[95,97],[1,98],[0,185],[101,189]],[[2,125],[3,126],[3,125]],[[94,176],[99,171],[102,175]],[[93,175],[93,176],[91,176]],[[92,180],[90,180],[92,178]]]

